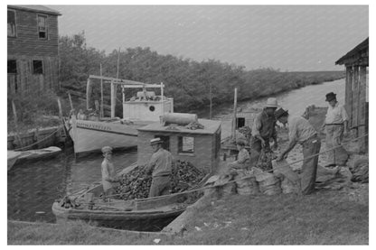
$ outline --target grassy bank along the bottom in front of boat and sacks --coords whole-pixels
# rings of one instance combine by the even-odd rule
[[[345,191],[309,196],[233,195],[206,202],[183,236],[137,236],[88,227],[8,222],[9,245],[367,245],[368,204]]]

